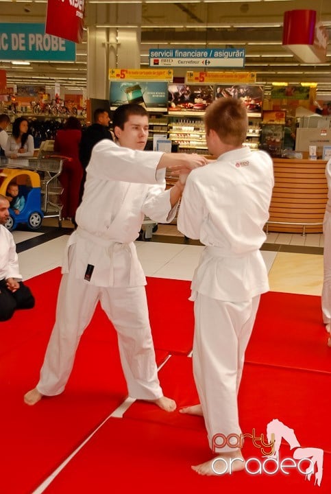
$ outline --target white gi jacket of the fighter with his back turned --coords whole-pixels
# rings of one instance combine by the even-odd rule
[[[206,245],[191,300],[199,292],[222,301],[248,301],[269,290],[259,249],[272,188],[270,156],[247,147],[226,152],[188,176],[177,227]]]

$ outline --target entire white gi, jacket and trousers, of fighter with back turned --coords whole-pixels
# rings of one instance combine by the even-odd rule
[[[273,163],[265,152],[232,150],[193,170],[184,189],[178,229],[206,245],[195,270],[193,372],[210,448],[233,448],[216,434],[241,434],[237,394],[260,294],[269,290],[260,253],[269,217]],[[233,442],[233,439],[232,439]]]

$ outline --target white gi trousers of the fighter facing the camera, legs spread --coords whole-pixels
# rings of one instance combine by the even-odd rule
[[[72,262],[73,252],[70,254]],[[62,275],[56,322],[40,371],[38,391],[53,396],[64,390],[80,337],[92,319],[98,301],[117,331],[130,397],[147,400],[162,397],[145,286],[97,287],[76,279],[75,270],[70,268],[69,273]]]

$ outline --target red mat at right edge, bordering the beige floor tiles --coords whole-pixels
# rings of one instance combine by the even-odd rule
[[[331,373],[327,339],[321,297],[269,292],[261,297],[246,361]]]

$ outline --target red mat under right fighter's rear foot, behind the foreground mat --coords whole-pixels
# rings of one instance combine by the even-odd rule
[[[178,409],[199,403],[191,358],[171,357],[159,376],[164,392],[175,399]],[[241,429],[252,433],[255,427],[265,432],[267,423],[278,419],[295,430],[302,445],[331,452],[329,389],[330,375],[327,374],[246,364],[239,393]],[[178,410],[164,414],[149,403],[134,403],[124,417],[205,431],[201,417],[183,415]]]

